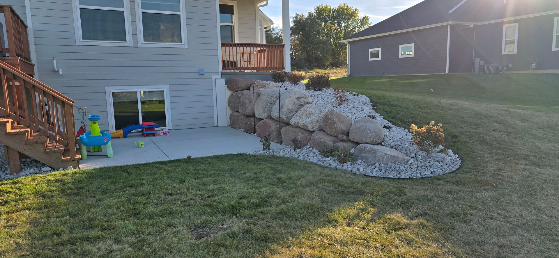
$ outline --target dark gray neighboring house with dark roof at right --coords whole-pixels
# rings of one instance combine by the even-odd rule
[[[559,73],[559,1],[425,0],[340,42],[350,76]]]

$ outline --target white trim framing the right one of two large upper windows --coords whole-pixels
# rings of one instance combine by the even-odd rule
[[[154,46],[154,47],[188,47],[187,40],[187,30],[186,30],[186,4],[184,0],[179,0],[181,4],[181,12],[171,12],[171,11],[154,11],[154,10],[142,10],[140,9],[140,0],[136,2],[136,30],[138,30],[138,46]],[[182,43],[171,43],[171,42],[144,42],[144,29],[142,23],[142,12],[150,13],[163,13],[168,15],[180,15],[181,16],[181,37]]]

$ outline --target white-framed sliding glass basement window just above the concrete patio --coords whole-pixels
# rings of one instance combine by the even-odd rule
[[[168,93],[165,89],[108,90],[112,108],[111,130],[120,130],[142,122],[157,123],[158,128],[170,128]]]

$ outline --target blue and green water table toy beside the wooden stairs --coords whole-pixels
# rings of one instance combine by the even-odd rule
[[[79,136],[80,141],[80,152],[82,154],[82,160],[87,160],[87,150],[86,146],[92,147],[92,152],[103,151],[101,146],[107,145],[107,157],[115,156],[112,153],[111,147],[111,134],[105,131],[101,131],[99,129],[99,125],[97,121],[101,120],[100,116],[96,114],[90,114],[87,118],[89,122],[89,128],[91,132],[86,132],[83,135]]]

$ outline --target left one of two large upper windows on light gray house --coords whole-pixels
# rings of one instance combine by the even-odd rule
[[[130,46],[127,0],[74,0],[77,45]]]

